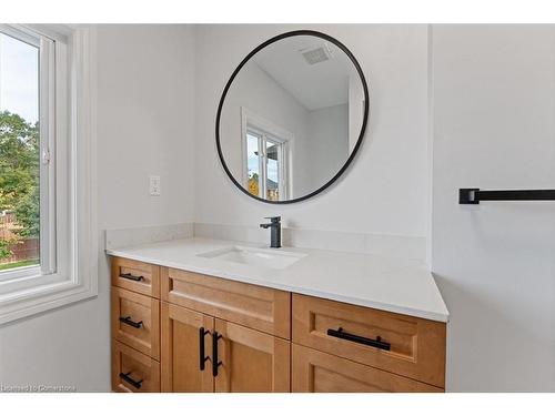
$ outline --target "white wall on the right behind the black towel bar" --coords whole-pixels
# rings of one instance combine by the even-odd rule
[[[553,26],[434,26],[433,256],[447,388],[555,390],[553,203],[457,204],[555,184]]]

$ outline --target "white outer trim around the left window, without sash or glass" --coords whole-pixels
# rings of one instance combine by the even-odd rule
[[[98,294],[95,29],[60,24],[10,28],[58,42],[57,63],[68,64],[57,65],[57,118],[50,126],[56,129],[56,159],[64,161],[56,163],[56,272],[0,281],[0,325]],[[52,158],[52,149],[50,152]],[[62,204],[60,195],[64,196]]]

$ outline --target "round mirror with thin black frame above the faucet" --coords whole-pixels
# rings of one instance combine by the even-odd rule
[[[218,108],[218,152],[248,195],[299,202],[346,170],[367,116],[366,81],[349,49],[324,33],[287,32],[231,75]]]

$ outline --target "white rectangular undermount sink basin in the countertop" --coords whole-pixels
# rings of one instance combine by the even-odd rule
[[[278,251],[275,248],[255,248],[234,245],[202,253],[199,254],[199,256],[280,270],[296,263],[301,258],[305,257],[306,254],[286,252],[282,250]]]

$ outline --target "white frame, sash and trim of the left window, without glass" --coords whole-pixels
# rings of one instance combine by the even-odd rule
[[[41,267],[0,275],[1,325],[97,295],[98,229],[94,28],[0,29],[41,49]]]

